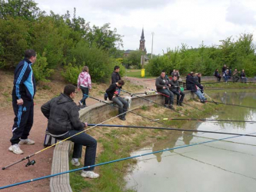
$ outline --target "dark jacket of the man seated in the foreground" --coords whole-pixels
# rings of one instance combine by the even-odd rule
[[[43,104],[41,111],[48,118],[50,134],[60,135],[72,129],[80,131],[85,127],[85,123],[79,119],[77,105],[66,94],[60,94]]]

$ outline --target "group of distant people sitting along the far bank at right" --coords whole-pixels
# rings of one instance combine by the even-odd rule
[[[242,71],[238,71],[238,69],[235,68],[232,73],[231,68],[228,68],[226,65],[224,65],[221,72],[222,75],[219,73],[218,69],[214,71],[214,77],[216,77],[218,81],[221,81],[221,77],[224,78],[224,82],[226,83],[228,83],[228,80],[231,78],[233,79],[233,83],[238,82],[239,79],[241,80],[241,83],[246,83],[247,81],[244,69]]]

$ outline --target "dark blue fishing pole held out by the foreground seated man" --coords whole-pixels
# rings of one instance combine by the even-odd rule
[[[95,126],[95,124],[88,124],[88,126]],[[191,129],[180,129],[180,128],[166,128],[166,127],[145,127],[145,126],[133,126],[133,125],[118,125],[118,124],[100,124],[98,127],[124,127],[124,128],[141,128],[141,129],[160,129],[160,130],[168,130],[168,131],[190,131],[194,132]],[[208,133],[208,134],[231,134],[231,135],[238,135],[238,136],[248,136],[248,137],[256,137],[256,135],[251,134],[234,134],[234,133],[227,133],[227,132],[218,132],[218,131],[198,131],[201,133]]]

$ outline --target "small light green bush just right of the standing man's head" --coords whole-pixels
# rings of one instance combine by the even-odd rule
[[[47,81],[46,78],[54,72],[53,69],[48,68],[47,58],[45,58],[45,53],[43,55],[37,55],[35,64],[32,65],[33,72],[35,74],[36,81]]]

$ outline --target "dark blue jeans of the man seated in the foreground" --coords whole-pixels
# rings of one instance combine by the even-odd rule
[[[82,131],[82,130],[81,130]],[[77,130],[68,131],[67,134],[63,135],[62,137],[56,137],[59,140],[63,140],[65,138],[71,137],[74,134],[77,134]],[[75,135],[68,139],[68,141],[74,142],[74,151],[73,151],[73,158],[81,158],[81,150],[83,146],[86,146],[85,150],[85,163],[84,167],[94,165],[95,164],[95,157],[96,157],[96,149],[97,149],[97,141],[94,137],[91,137],[85,132]],[[84,170],[94,170],[95,167],[90,167]]]

